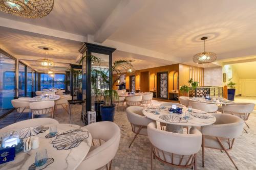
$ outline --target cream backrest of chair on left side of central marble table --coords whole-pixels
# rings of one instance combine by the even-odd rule
[[[126,115],[130,123],[134,125],[147,126],[152,122],[151,119],[143,115],[142,110],[144,108],[140,106],[130,106],[126,108]]]

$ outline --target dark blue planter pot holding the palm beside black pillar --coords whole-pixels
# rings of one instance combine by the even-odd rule
[[[104,104],[100,105],[100,114],[101,114],[102,121],[114,122],[115,105],[114,104],[112,104],[111,106],[104,106]]]

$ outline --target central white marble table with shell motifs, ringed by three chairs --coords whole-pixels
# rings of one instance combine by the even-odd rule
[[[142,112],[147,118],[166,124],[166,131],[175,132],[175,133],[183,133],[183,126],[201,127],[201,126],[211,125],[216,122],[215,116],[212,116],[209,113],[206,113],[204,111],[197,110],[197,109],[192,109],[192,112],[190,114],[191,119],[186,119],[186,120],[182,119],[181,122],[179,123],[167,122],[166,120],[160,118],[161,115],[179,116],[180,118],[182,118],[185,116],[185,113],[187,112],[188,108],[186,107],[180,107],[180,108],[182,108],[182,114],[169,113],[168,108],[160,109],[159,106],[156,106],[156,109],[159,109],[158,112],[160,114],[154,114],[153,112],[148,112],[146,111],[147,108],[144,109]],[[205,115],[209,118],[199,118],[199,117],[196,117],[196,115],[198,116]]]

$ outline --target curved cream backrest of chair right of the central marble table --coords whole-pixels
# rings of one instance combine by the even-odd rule
[[[244,121],[231,114],[212,114],[216,117],[213,125],[201,127],[203,135],[217,136],[223,138],[237,138],[243,133]]]

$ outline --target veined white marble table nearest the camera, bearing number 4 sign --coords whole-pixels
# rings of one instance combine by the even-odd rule
[[[53,125],[46,125],[44,127],[50,128],[51,126]],[[34,127],[31,127],[31,128],[34,128]],[[31,136],[31,139],[33,139],[35,136],[39,138],[39,143],[40,143],[39,148],[34,150],[32,149],[31,151],[28,151],[28,152],[23,152],[23,151],[19,152],[18,154],[16,154],[14,161],[1,164],[0,169],[1,170],[5,170],[5,169],[6,170],[7,169],[8,170],[19,170],[19,169],[27,170],[35,162],[36,152],[42,149],[46,149],[48,158],[53,159],[53,162],[48,166],[46,166],[44,169],[46,170],[76,169],[90,150],[90,147],[92,144],[92,136],[85,127],[81,127],[78,125],[58,124],[57,131],[58,131],[58,135],[56,135],[53,138],[45,137],[47,134],[49,134],[49,129],[43,133],[38,133],[37,135]],[[71,140],[71,138],[73,140]],[[58,142],[56,143],[55,142],[56,139],[61,139],[61,140],[58,140]],[[73,143],[67,144],[68,140],[73,141]],[[26,138],[24,139],[24,142],[25,141],[26,141]],[[74,141],[76,142],[80,141],[80,142],[75,144]],[[62,143],[66,143],[66,145]],[[70,145],[72,145],[73,148],[70,148],[70,149],[67,148]]]

